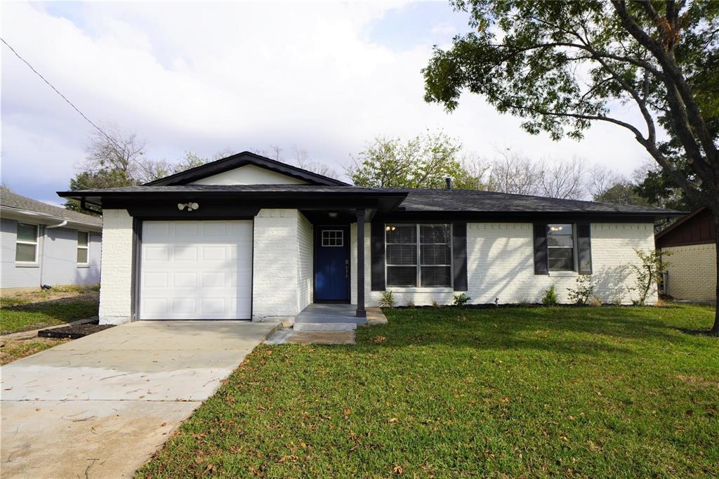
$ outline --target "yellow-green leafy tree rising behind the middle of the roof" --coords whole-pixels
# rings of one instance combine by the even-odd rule
[[[355,185],[372,188],[445,188],[446,178],[452,178],[454,188],[477,189],[479,178],[462,167],[461,150],[457,140],[441,132],[406,142],[375,137],[354,158],[347,175]]]

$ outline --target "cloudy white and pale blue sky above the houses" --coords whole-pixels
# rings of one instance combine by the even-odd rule
[[[383,134],[443,129],[464,149],[579,156],[622,173],[646,153],[623,129],[582,142],[531,136],[467,94],[447,114],[423,101],[432,45],[467,32],[446,1],[429,3],[8,3],[2,37],[81,111],[145,139],[149,158],[191,150],[306,150],[342,170]],[[4,45],[1,179],[59,202],[92,127]],[[631,112],[626,112],[631,114]]]

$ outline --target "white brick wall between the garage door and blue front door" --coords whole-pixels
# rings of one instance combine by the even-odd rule
[[[252,319],[295,316],[311,302],[311,227],[296,209],[255,216]]]

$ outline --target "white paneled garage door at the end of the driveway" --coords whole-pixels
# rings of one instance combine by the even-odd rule
[[[142,224],[140,319],[249,319],[252,221]]]

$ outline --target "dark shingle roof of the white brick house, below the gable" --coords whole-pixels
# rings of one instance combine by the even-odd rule
[[[101,198],[103,196],[135,196],[151,193],[212,194],[237,193],[262,196],[264,194],[291,196],[292,194],[350,193],[372,196],[404,196],[400,210],[412,212],[456,211],[462,213],[577,213],[577,214],[637,214],[674,216],[672,211],[650,206],[634,206],[595,201],[546,198],[493,191],[475,190],[431,190],[411,188],[362,188],[360,186],[324,185],[176,185],[176,186],[125,186],[103,190],[72,191],[60,196],[70,198]]]

